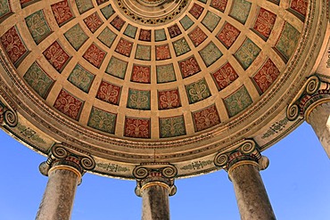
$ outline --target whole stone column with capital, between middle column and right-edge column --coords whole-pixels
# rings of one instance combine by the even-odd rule
[[[276,219],[260,176],[260,169],[268,167],[269,161],[261,157],[256,143],[248,140],[235,151],[219,153],[214,163],[227,170],[234,184],[241,219]]]

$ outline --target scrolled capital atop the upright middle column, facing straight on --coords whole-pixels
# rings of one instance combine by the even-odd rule
[[[177,168],[169,163],[142,163],[135,167],[133,175],[136,178],[136,195],[141,196],[144,189],[159,185],[169,190],[169,196],[177,192],[174,178]]]

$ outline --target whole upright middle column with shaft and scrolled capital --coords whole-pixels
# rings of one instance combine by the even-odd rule
[[[169,196],[176,193],[177,168],[169,164],[141,164],[136,177],[136,195],[142,197],[142,220],[169,220]]]

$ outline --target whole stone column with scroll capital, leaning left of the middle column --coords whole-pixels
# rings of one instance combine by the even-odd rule
[[[36,219],[69,220],[81,176],[94,167],[90,156],[55,144],[49,158],[39,166],[40,172],[48,175],[48,183]]]

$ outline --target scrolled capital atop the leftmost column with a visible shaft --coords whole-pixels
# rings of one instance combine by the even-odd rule
[[[48,159],[40,164],[39,170],[41,174],[48,175],[56,169],[67,169],[81,177],[94,167],[95,160],[91,156],[56,143],[49,151]]]

